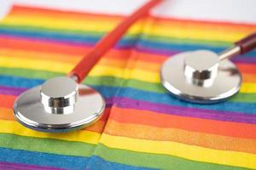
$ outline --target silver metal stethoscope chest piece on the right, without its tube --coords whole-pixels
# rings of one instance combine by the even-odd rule
[[[162,65],[160,76],[171,94],[194,103],[217,103],[236,94],[241,86],[236,65],[207,50],[172,56]]]

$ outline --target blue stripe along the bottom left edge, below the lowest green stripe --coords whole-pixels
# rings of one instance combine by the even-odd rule
[[[0,148],[0,161],[67,169],[150,169],[105,161],[99,156],[65,156],[28,150]]]

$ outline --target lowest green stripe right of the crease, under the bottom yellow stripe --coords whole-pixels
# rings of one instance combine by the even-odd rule
[[[95,152],[105,160],[119,162],[137,167],[153,167],[160,169],[245,169],[241,167],[229,167],[213,163],[190,161],[177,156],[160,154],[139,153],[131,150],[110,149],[103,144],[98,144]]]

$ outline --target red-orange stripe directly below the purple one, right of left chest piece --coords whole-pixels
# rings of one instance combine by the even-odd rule
[[[222,122],[118,107],[112,107],[109,117],[117,122],[132,122],[154,127],[172,127],[201,133],[256,139],[256,125],[241,122]]]

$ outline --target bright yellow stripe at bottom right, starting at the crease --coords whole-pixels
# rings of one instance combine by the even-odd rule
[[[179,156],[194,161],[218,163],[236,167],[256,168],[256,155],[228,150],[213,150],[200,146],[180,144],[171,141],[131,139],[102,134],[100,141],[110,148],[138,152]]]

